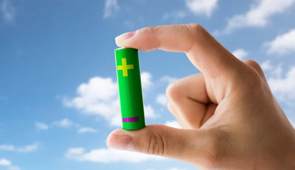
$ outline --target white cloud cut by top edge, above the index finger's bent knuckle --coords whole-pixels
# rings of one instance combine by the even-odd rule
[[[212,15],[217,7],[218,0],[185,0],[185,6],[196,15]]]

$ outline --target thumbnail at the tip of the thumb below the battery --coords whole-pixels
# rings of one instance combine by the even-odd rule
[[[134,139],[128,135],[114,135],[109,141],[109,146],[118,150],[133,150]]]

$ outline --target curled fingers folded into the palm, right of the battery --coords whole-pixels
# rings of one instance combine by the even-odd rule
[[[202,73],[184,77],[170,84],[166,90],[169,99],[168,109],[182,128],[200,128],[202,121],[214,110],[207,110],[209,101]],[[215,100],[214,95],[211,95]]]

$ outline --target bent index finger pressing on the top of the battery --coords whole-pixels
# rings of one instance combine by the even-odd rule
[[[143,51],[185,52],[192,64],[207,77],[238,75],[237,71],[245,67],[199,24],[146,27],[122,34],[116,38],[116,43],[119,47]]]

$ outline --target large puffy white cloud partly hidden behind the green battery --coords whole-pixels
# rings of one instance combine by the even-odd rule
[[[141,74],[143,91],[153,86],[150,73]],[[73,107],[88,115],[99,115],[110,122],[110,125],[121,126],[120,101],[118,84],[112,78],[93,77],[88,83],[81,84],[77,89],[78,96],[63,99],[67,107]],[[154,118],[150,105],[145,105],[146,118]]]

